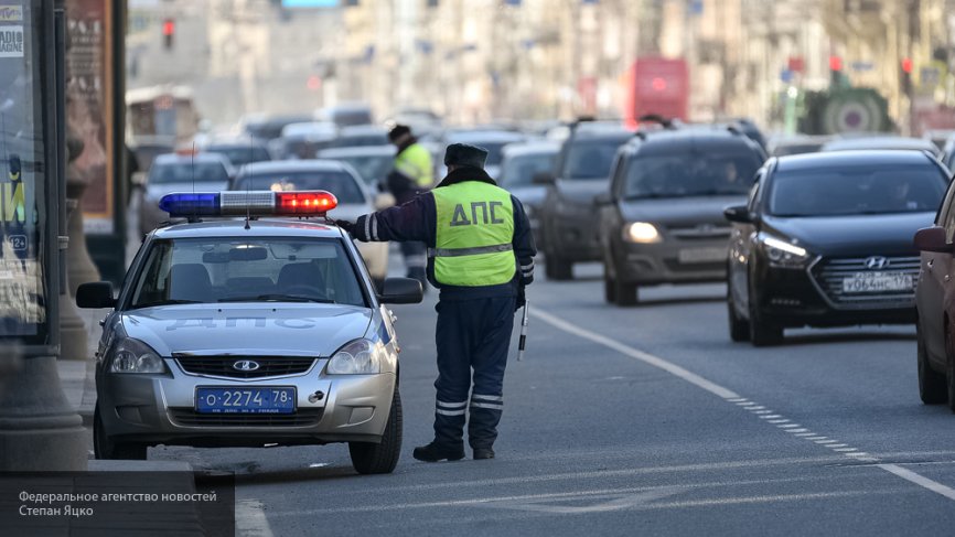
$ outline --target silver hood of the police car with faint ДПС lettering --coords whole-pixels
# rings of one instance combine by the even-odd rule
[[[368,330],[372,310],[340,304],[187,304],[122,313],[127,335],[173,353],[330,356]]]

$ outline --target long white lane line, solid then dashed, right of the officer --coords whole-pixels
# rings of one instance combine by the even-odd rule
[[[658,369],[663,369],[663,370],[665,370],[665,372],[667,372],[667,373],[669,373],[669,374],[672,374],[678,378],[682,378],[682,379],[693,384],[694,386],[697,386],[701,389],[705,389],[706,391],[709,391],[710,394],[716,395],[717,397],[722,398],[726,401],[734,402],[737,405],[742,405],[742,406],[751,406],[751,401],[748,398],[742,397],[740,394],[737,394],[736,391],[733,391],[727,387],[720,386],[719,384],[713,383],[712,380],[709,380],[709,379],[707,379],[700,375],[697,375],[696,373],[693,373],[689,369],[686,369],[686,368],[680,367],[680,366],[678,366],[672,362],[668,362],[664,358],[661,358],[659,356],[655,356],[655,355],[646,353],[644,351],[640,351],[639,348],[632,347],[625,343],[621,343],[621,342],[619,342],[612,337],[605,336],[603,334],[600,334],[600,333],[597,333],[597,332],[593,332],[593,331],[590,331],[587,329],[582,329],[580,326],[576,326],[576,325],[573,325],[573,324],[571,324],[571,323],[569,323],[569,322],[567,322],[567,321],[565,321],[565,320],[562,320],[556,315],[551,315],[550,313],[546,313],[546,312],[543,312],[540,310],[534,310],[532,312],[532,314],[534,316],[540,319],[541,321],[546,322],[547,324],[550,324],[551,326],[554,326],[558,330],[562,330],[564,332],[567,332],[568,334],[577,335],[578,337],[589,340],[593,343],[597,343],[597,344],[603,345],[610,350],[616,351],[620,354],[623,354],[624,356],[635,358],[640,362],[643,362],[644,364],[651,365],[651,366],[656,367]],[[780,415],[776,415],[776,416],[764,415],[764,416],[759,416],[759,417],[761,419],[782,418],[782,416],[780,416]],[[769,420],[770,423],[782,423],[782,422],[786,422],[786,421],[790,421],[790,420],[787,420],[787,419]],[[817,440],[817,441],[815,441],[815,443],[818,443],[818,444],[824,445],[824,447],[829,448],[829,449],[834,449],[836,451],[839,451],[837,448],[848,447],[848,444],[845,444],[845,443],[840,444],[835,440]],[[855,451],[855,449],[854,449],[854,451]],[[848,454],[848,453],[845,453],[845,454]],[[859,460],[863,460],[863,459],[859,459]],[[867,458],[865,460],[870,460],[872,462],[878,461],[877,458]],[[904,469],[904,468],[899,466],[897,464],[876,464],[876,466],[880,468],[880,469],[882,469],[882,470],[884,470],[884,471],[887,471],[887,472],[889,472],[895,476],[899,476],[905,481],[909,481],[910,483],[919,485],[919,486],[926,488],[929,491],[932,491],[936,494],[941,494],[942,496],[945,496],[949,500],[955,500],[955,488],[948,487],[946,485],[943,485],[942,483],[930,480],[929,477],[925,477],[924,475],[912,472],[911,470]]]

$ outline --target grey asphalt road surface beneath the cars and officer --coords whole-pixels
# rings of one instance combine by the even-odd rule
[[[394,474],[356,475],[344,445],[150,458],[235,471],[244,535],[953,534],[955,416],[919,401],[912,329],[795,331],[757,350],[729,341],[722,286],[618,309],[599,267],[578,273],[529,290],[495,460],[411,458],[431,439],[434,293],[395,308]]]

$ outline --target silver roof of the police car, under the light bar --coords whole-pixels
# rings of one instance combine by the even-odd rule
[[[268,218],[249,222],[245,218],[210,219],[173,224],[154,232],[155,238],[229,238],[229,237],[325,237],[340,238],[342,230],[323,221]]]

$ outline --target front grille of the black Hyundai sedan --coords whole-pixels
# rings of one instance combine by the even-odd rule
[[[882,309],[914,305],[915,289],[919,281],[921,259],[919,257],[888,257],[882,268],[870,269],[870,258],[822,259],[812,268],[812,276],[818,289],[837,308]],[[857,272],[863,273],[905,273],[912,277],[912,289],[902,291],[876,291],[846,293],[843,280]]]

